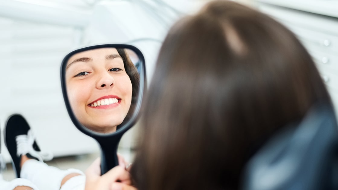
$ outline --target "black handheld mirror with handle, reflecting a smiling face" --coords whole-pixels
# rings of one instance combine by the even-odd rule
[[[62,62],[61,85],[72,122],[100,145],[104,174],[118,165],[118,143],[138,118],[146,86],[144,57],[125,44],[77,49]]]

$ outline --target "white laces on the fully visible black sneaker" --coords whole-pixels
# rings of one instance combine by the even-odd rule
[[[35,141],[35,135],[31,129],[28,130],[27,135],[18,135],[16,137],[17,142],[17,156],[27,155],[37,158],[39,161],[48,161],[53,159],[53,154],[51,152],[42,152],[36,151],[33,148],[33,144]]]

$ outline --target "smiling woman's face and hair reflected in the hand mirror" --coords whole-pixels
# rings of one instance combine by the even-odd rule
[[[124,49],[100,48],[69,58],[66,84],[79,122],[95,132],[112,133],[134,111],[139,74]]]

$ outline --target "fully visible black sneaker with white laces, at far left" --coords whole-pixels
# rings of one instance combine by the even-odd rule
[[[33,131],[30,129],[25,118],[19,114],[11,115],[4,128],[5,145],[12,158],[12,165],[17,177],[21,172],[21,156],[26,155],[28,158],[35,160],[51,160],[51,153],[42,153]]]

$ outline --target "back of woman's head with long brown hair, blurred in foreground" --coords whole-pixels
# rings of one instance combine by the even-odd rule
[[[132,175],[140,190],[237,189],[252,154],[317,101],[330,98],[288,29],[211,2],[163,43]]]

